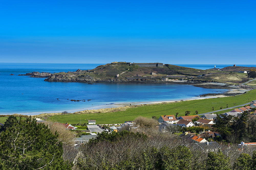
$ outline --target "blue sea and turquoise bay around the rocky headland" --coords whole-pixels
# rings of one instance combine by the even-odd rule
[[[93,69],[104,63],[0,63],[0,114],[37,115],[62,111],[116,107],[129,103],[147,103],[193,99],[201,94],[227,89],[206,89],[170,83],[78,83],[45,82],[45,78],[18,76],[33,71],[68,72]],[[174,64],[196,69],[210,69],[210,64]],[[216,65],[223,68],[230,65]],[[256,67],[256,65],[237,65]],[[14,74],[14,75],[10,75]],[[82,101],[71,101],[82,100]]]

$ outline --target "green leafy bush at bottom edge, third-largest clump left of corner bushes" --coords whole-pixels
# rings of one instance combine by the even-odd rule
[[[206,168],[209,170],[230,169],[229,157],[225,156],[221,150],[218,152],[209,152],[206,160]]]

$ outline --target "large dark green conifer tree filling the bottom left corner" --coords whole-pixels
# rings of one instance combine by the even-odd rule
[[[62,142],[48,126],[21,117],[0,134],[0,168],[71,169],[62,158]]]

